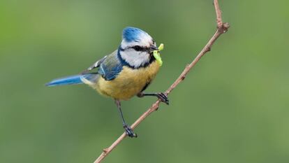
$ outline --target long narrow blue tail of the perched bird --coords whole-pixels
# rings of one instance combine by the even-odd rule
[[[96,77],[96,73],[87,73],[82,75],[75,75],[75,76],[66,76],[64,78],[57,78],[52,80],[50,83],[46,83],[46,86],[57,86],[57,85],[76,85],[82,84],[81,78],[86,78],[90,80]]]

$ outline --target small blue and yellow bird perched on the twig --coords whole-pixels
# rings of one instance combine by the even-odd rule
[[[111,97],[119,110],[124,131],[131,138],[137,137],[124,119],[121,101],[135,96],[153,96],[169,104],[168,96],[163,92],[144,93],[161,66],[153,55],[154,50],[158,50],[156,42],[146,31],[126,27],[117,50],[94,62],[82,73],[57,78],[46,85],[86,84],[99,94]]]

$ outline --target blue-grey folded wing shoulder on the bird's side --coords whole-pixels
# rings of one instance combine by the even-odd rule
[[[105,80],[113,80],[121,72],[124,66],[117,56],[118,50],[108,55],[100,64],[98,74],[101,74]]]

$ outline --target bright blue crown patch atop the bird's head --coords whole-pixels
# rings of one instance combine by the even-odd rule
[[[140,41],[140,34],[147,34],[147,32],[134,27],[126,27],[122,31],[122,38],[125,39],[127,42]]]

